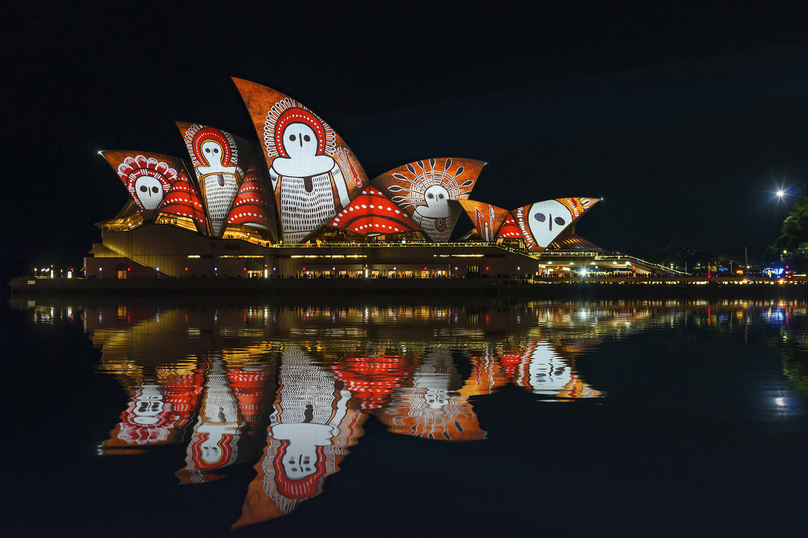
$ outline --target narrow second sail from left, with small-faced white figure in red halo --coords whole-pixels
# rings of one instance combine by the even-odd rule
[[[244,179],[244,170],[238,166],[239,149],[246,149],[246,141],[239,148],[229,132],[200,124],[177,122],[179,132],[191,155],[200,197],[208,213],[212,237],[221,237],[238,187]],[[240,140],[240,139],[239,139]]]

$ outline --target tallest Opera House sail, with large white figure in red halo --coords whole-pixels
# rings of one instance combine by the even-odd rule
[[[297,244],[346,208],[367,176],[342,138],[296,100],[234,78],[267,161],[284,242]]]

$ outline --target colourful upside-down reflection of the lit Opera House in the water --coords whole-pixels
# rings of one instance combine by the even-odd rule
[[[24,306],[44,323],[77,310]],[[401,435],[473,441],[486,432],[472,398],[506,385],[538,401],[604,396],[576,358],[606,339],[692,315],[677,306],[88,306],[83,321],[101,350],[99,371],[128,395],[100,452],[185,443],[182,484],[254,464],[234,527],[259,523],[320,494],[370,417]],[[745,308],[724,318],[707,309],[688,322],[743,322]],[[793,308],[772,312],[787,322]]]

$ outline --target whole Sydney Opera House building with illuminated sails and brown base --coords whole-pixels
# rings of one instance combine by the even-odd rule
[[[485,162],[428,158],[368,179],[339,134],[295,99],[234,78],[255,145],[178,122],[190,160],[103,151],[129,200],[99,223],[86,276],[503,277],[592,259],[574,225],[598,200],[511,210],[470,199]],[[456,232],[465,212],[473,229]],[[574,262],[570,261],[570,264]]]

